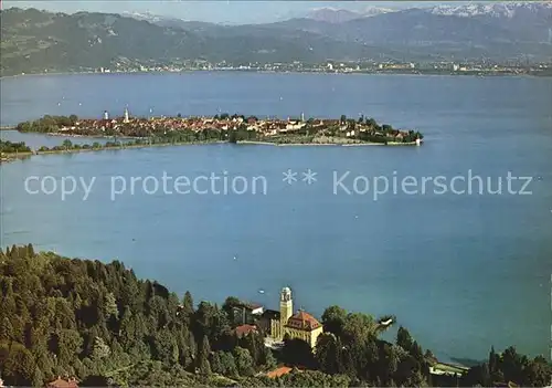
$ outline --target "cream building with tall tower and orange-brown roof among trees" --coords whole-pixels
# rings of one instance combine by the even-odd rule
[[[289,287],[282,289],[279,295],[279,314],[270,316],[270,337],[283,340],[285,336],[305,340],[310,347],[316,346],[318,336],[322,334],[322,325],[309,313],[299,310],[294,314],[294,301]]]

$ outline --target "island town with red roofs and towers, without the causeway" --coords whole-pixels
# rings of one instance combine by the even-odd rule
[[[269,143],[380,143],[420,145],[423,135],[414,130],[395,129],[391,125],[379,125],[373,118],[308,118],[300,117],[258,118],[257,116],[217,114],[212,117],[131,117],[125,108],[120,117],[110,117],[107,111],[102,118],[78,118],[75,115],[44,116],[35,122],[17,126],[20,132],[50,133],[65,136],[118,136],[129,138],[176,137],[183,140],[266,140]]]

